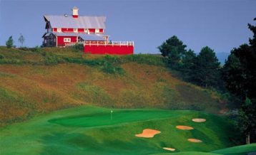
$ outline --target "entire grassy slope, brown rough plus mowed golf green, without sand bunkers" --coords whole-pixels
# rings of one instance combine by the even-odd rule
[[[0,154],[256,151],[255,144],[232,147],[237,132],[220,115],[225,102],[215,91],[182,81],[159,55],[0,47]],[[207,121],[192,122],[198,117]],[[135,137],[143,129],[161,133],[151,139]]]

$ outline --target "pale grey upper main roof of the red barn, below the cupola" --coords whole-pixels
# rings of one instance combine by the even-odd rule
[[[105,28],[104,16],[44,16],[51,28]]]

